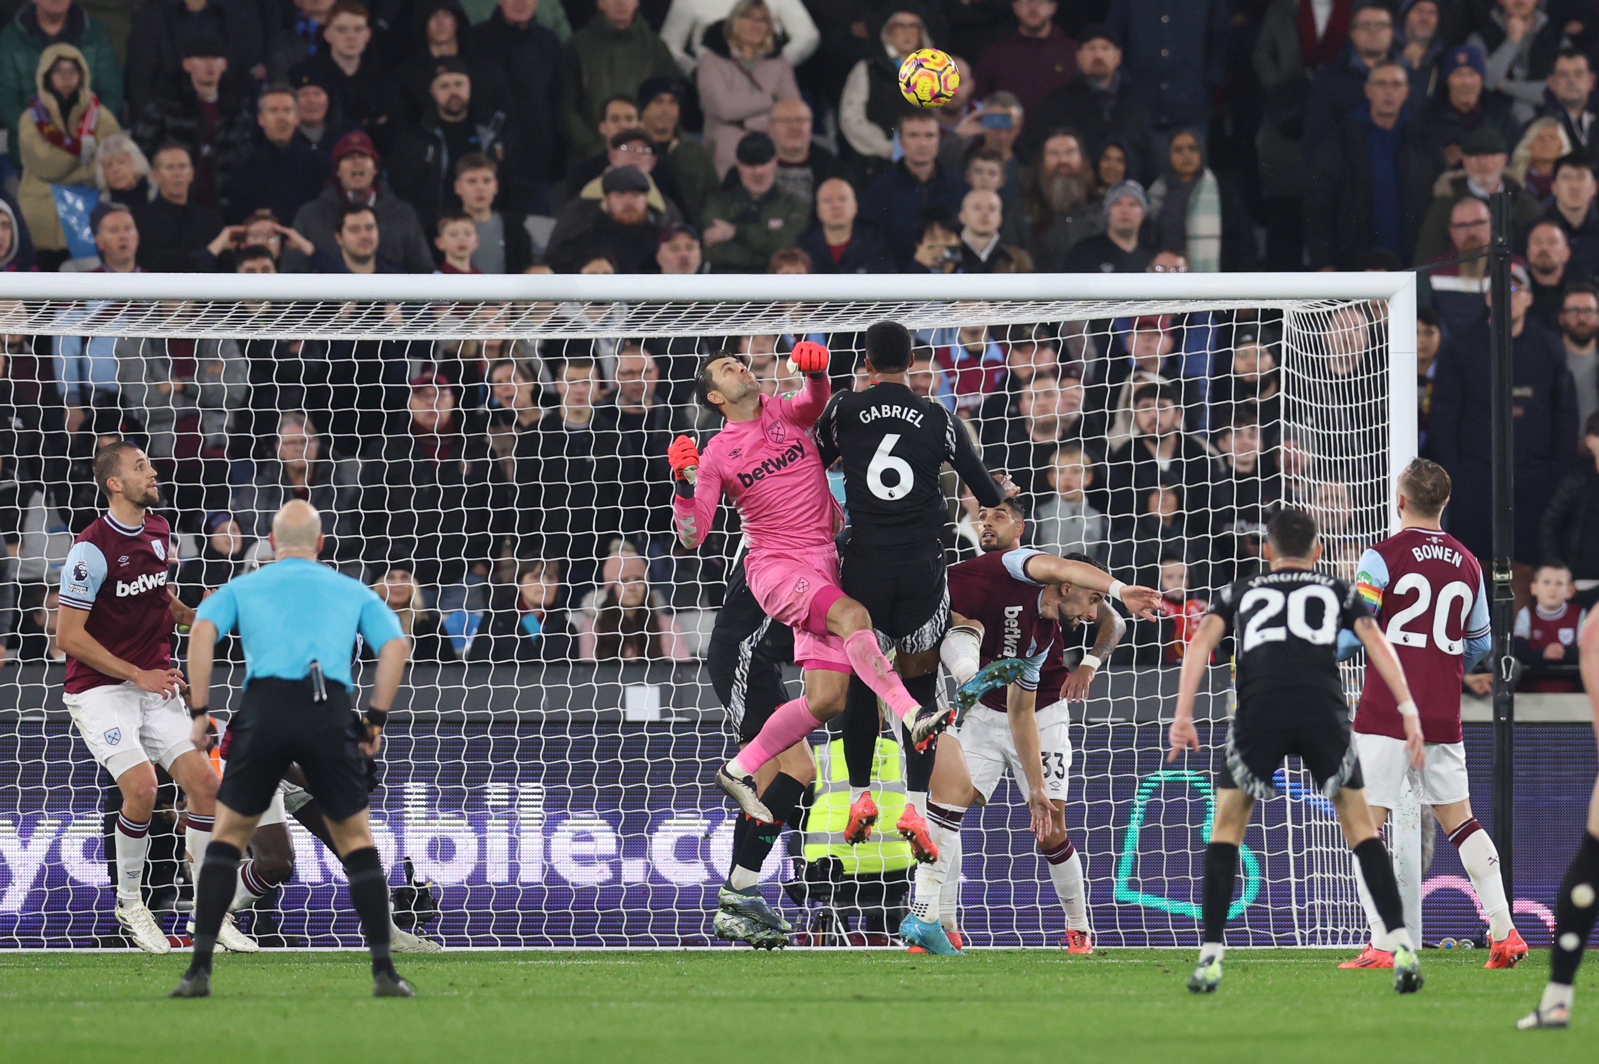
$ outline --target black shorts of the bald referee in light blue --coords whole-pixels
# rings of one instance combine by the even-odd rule
[[[305,773],[305,789],[331,821],[366,808],[366,730],[350,710],[350,693],[331,680],[317,702],[307,680],[251,680],[233,715],[227,771],[216,798],[243,816],[261,816],[289,763]]]

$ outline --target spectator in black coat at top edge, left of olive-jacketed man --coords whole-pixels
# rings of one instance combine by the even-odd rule
[[[494,101],[528,144],[528,170],[521,176],[528,182],[528,202],[521,210],[540,214],[548,213],[550,182],[561,174],[560,115],[563,104],[571,104],[561,99],[560,32],[542,24],[544,16],[561,11],[563,6],[552,0],[500,0],[488,21],[472,29],[475,59],[492,77]],[[569,35],[571,29],[566,32]],[[587,149],[574,141],[579,158],[600,147],[592,141],[593,134],[585,141]]]

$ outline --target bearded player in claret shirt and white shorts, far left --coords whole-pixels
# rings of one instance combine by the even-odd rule
[[[122,790],[114,832],[117,922],[139,949],[165,954],[171,944],[141,893],[155,808],[150,762],[171,773],[189,798],[190,861],[205,856],[216,816],[216,771],[189,741],[184,674],[173,667],[173,626],[192,622],[195,611],[166,586],[173,533],[165,517],[149,512],[161,493],[146,453],[126,440],[107,443],[94,454],[94,480],[109,506],[61,566],[62,702]],[[257,949],[232,918],[217,941],[235,952]]]

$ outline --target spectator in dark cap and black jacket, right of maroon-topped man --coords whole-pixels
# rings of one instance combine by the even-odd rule
[[[1028,128],[1020,142],[1023,157],[1036,160],[1046,139],[1057,130],[1071,130],[1081,157],[1087,158],[1111,138],[1119,138],[1132,146],[1138,173],[1153,173],[1150,112],[1122,77],[1116,30],[1105,24],[1079,30],[1076,66],[1083,77],[1052,88],[1031,107],[1025,94],[1017,94],[1028,110]]]

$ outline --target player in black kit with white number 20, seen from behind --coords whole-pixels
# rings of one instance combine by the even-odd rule
[[[1422,722],[1406,686],[1404,667],[1361,594],[1313,570],[1321,560],[1321,541],[1310,514],[1284,509],[1271,517],[1266,560],[1270,573],[1222,589],[1183,654],[1167,762],[1183,750],[1199,750],[1194,694],[1210,651],[1228,629],[1238,634],[1238,712],[1217,774],[1215,824],[1204,851],[1204,946],[1199,966],[1188,976],[1188,989],[1210,994],[1222,982],[1222,939],[1244,827],[1255,798],[1276,797],[1271,778],[1282,758],[1298,754],[1338,811],[1338,826],[1388,928],[1386,942],[1378,946],[1393,954],[1394,990],[1414,994],[1422,989],[1422,962],[1404,925],[1393,862],[1366,805],[1361,760],[1350,738],[1350,712],[1338,677],[1340,629],[1354,632],[1372,667],[1393,690],[1409,763],[1420,770],[1426,757]]]

